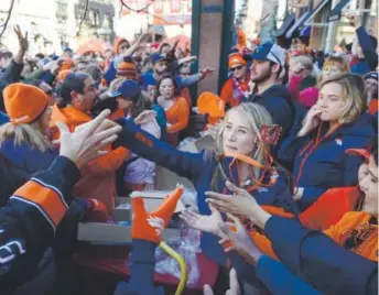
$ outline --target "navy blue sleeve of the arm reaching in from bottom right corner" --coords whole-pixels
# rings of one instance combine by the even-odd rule
[[[323,294],[378,294],[378,263],[342,248],[324,233],[277,216],[268,220],[264,233],[280,261]]]

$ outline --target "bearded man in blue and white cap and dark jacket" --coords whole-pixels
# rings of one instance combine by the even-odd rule
[[[282,127],[282,142],[289,135],[295,117],[291,96],[279,81],[280,74],[284,70],[285,51],[277,44],[267,42],[258,46],[252,59],[250,78],[256,84],[256,91],[249,101],[264,107],[273,122]]]

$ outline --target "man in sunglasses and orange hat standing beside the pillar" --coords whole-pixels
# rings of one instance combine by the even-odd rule
[[[250,77],[247,73],[247,62],[241,54],[231,54],[228,64],[231,77],[224,84],[220,98],[227,106],[236,107],[240,102],[247,101],[250,95]]]

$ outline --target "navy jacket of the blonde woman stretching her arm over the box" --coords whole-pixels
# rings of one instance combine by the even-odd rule
[[[208,159],[204,153],[188,153],[176,150],[166,142],[156,140],[154,136],[141,130],[132,121],[119,121],[123,124],[123,130],[119,134],[116,145],[122,145],[139,156],[155,162],[156,164],[188,178],[197,192],[197,205],[199,212],[209,215],[210,209],[205,201],[205,192],[212,190],[212,178],[216,170],[216,161]],[[238,183],[237,164],[231,163],[232,159],[221,160],[221,166],[227,177],[232,183]],[[271,175],[268,175],[269,178]],[[268,182],[268,179],[266,179]],[[225,187],[225,179],[218,177],[217,192],[230,194]],[[269,188],[261,187],[252,193],[258,204],[281,207],[284,210],[297,214],[297,208],[293,201],[290,187],[282,173],[277,183]],[[226,265],[226,255],[218,244],[218,238],[204,233],[202,237],[202,250],[212,260],[221,265]]]

